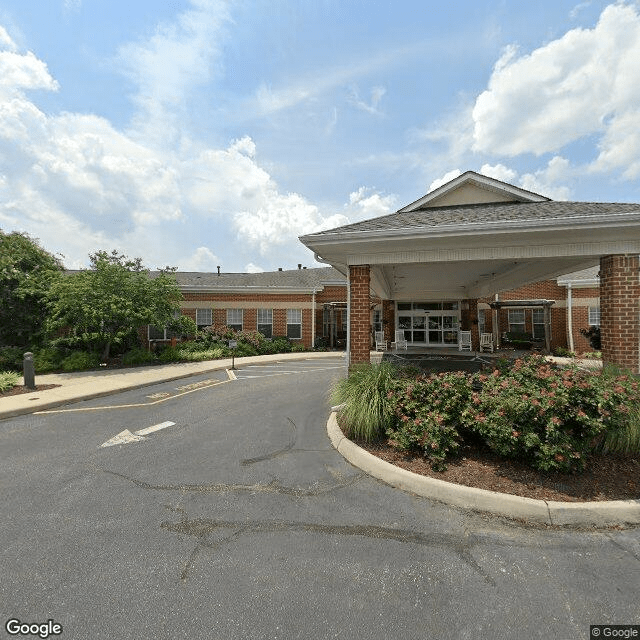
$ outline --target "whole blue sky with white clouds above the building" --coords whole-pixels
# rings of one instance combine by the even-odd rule
[[[0,0],[0,229],[68,268],[319,266],[473,170],[640,203],[640,6]]]

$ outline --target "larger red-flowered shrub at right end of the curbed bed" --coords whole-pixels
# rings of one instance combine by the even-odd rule
[[[508,371],[475,374],[461,419],[488,447],[541,471],[582,471],[607,433],[629,423],[638,383],[629,376],[556,368],[540,356]]]

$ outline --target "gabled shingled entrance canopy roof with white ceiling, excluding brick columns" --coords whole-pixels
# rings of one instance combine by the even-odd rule
[[[480,298],[640,253],[640,205],[555,202],[467,172],[396,213],[302,236],[386,299]]]

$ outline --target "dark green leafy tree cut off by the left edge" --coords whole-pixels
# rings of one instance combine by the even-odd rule
[[[0,230],[0,346],[36,344],[46,315],[46,295],[62,276],[58,258],[26,233]]]

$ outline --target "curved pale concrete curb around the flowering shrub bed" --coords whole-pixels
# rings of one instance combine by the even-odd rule
[[[462,509],[538,524],[589,528],[640,524],[640,500],[547,502],[466,487],[401,469],[346,438],[336,415],[332,412],[327,421],[327,434],[335,449],[354,466],[397,489]]]

